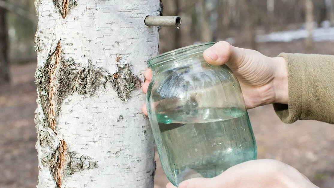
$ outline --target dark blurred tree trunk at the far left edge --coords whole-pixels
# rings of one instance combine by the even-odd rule
[[[2,82],[9,82],[9,60],[6,10],[0,7],[0,84]]]

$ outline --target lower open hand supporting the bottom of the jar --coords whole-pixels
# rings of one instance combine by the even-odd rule
[[[238,188],[238,187],[303,187],[314,188],[298,170],[273,159],[246,161],[230,167],[214,178],[192,178],[181,182],[179,188]],[[166,188],[176,188],[171,183]]]

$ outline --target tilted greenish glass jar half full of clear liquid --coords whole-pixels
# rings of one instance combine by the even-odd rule
[[[176,49],[148,60],[152,80],[147,111],[167,178],[175,186],[211,178],[256,159],[256,142],[236,77],[203,52],[214,42]]]

